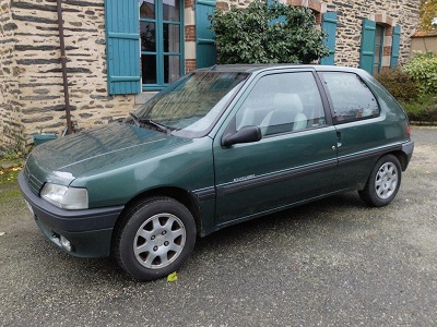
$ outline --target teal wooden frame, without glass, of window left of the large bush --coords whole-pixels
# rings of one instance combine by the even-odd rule
[[[141,11],[139,13],[139,25],[140,25],[140,64],[142,64],[143,56],[155,56],[156,58],[156,83],[155,84],[144,84],[142,78],[142,68],[141,68],[141,89],[142,90],[161,90],[164,89],[168,84],[165,83],[165,72],[164,72],[164,58],[175,56],[179,57],[179,76],[180,78],[185,74],[185,24],[184,24],[184,0],[179,1],[179,21],[165,21],[164,20],[164,0],[155,1],[155,19],[141,17]],[[138,2],[139,8],[141,2]],[[141,48],[141,22],[155,24],[155,51],[143,51]],[[179,26],[179,51],[180,52],[165,52],[164,51],[164,24]],[[175,81],[177,81],[176,78]]]

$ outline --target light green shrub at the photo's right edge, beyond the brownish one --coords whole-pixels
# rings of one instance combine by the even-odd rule
[[[421,96],[437,93],[436,55],[430,51],[417,51],[403,69],[416,83]]]

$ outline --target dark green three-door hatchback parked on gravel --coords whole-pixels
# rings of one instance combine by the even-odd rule
[[[37,146],[19,182],[60,249],[151,280],[236,222],[351,190],[388,205],[413,148],[404,111],[362,70],[218,65],[123,122]]]

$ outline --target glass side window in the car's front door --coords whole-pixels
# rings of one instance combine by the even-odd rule
[[[241,105],[236,123],[237,130],[258,125],[263,135],[324,125],[323,106],[312,73],[263,76]]]

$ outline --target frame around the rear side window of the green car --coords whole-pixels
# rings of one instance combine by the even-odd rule
[[[371,93],[371,95],[374,96],[375,101],[376,101],[376,104],[377,104],[377,106],[378,106],[378,109],[379,109],[378,116],[365,116],[365,117],[358,117],[358,118],[355,118],[355,119],[339,121],[339,120],[336,119],[334,102],[333,102],[333,100],[332,100],[331,93],[330,93],[330,90],[329,90],[329,88],[328,88],[328,84],[327,84],[327,82],[326,82],[326,80],[324,80],[324,77],[323,77],[323,74],[332,74],[332,73],[335,73],[335,74],[354,74],[356,77],[358,77],[359,81],[367,87],[367,89],[368,89],[368,90]],[[369,85],[368,85],[368,83],[366,82],[366,80],[363,78],[362,76],[359,76],[359,74],[357,74],[357,73],[355,73],[355,72],[344,72],[344,71],[318,71],[317,74],[318,74],[318,76],[319,76],[319,78],[320,78],[320,81],[321,81],[321,83],[322,83],[322,86],[323,86],[323,89],[324,89],[324,94],[326,94],[326,97],[327,97],[327,100],[328,100],[328,104],[329,104],[329,108],[330,108],[329,111],[330,111],[330,117],[331,117],[332,125],[346,124],[346,123],[352,123],[352,122],[357,122],[357,121],[365,121],[365,120],[370,120],[370,119],[379,119],[379,118],[381,117],[382,107],[381,107],[381,105],[380,105],[380,102],[379,102],[378,97],[376,96],[376,94],[375,94],[375,92],[371,89],[371,87],[369,87]]]

